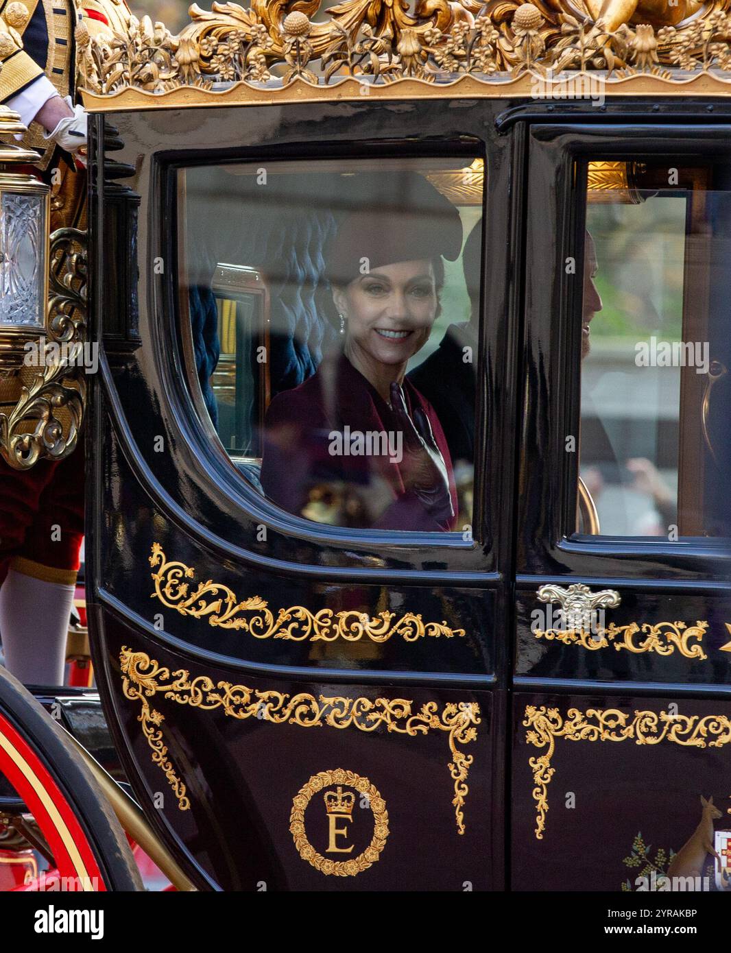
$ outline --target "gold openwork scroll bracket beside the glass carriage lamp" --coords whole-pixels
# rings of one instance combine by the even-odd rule
[[[86,407],[86,242],[78,229],[51,234],[48,340],[35,341],[38,372],[20,387],[10,413],[0,414],[0,454],[15,470],[63,459],[76,446]]]

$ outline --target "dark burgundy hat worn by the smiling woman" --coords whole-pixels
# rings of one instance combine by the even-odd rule
[[[455,261],[462,223],[455,206],[417,172],[348,177],[348,213],[330,245],[327,276],[333,285],[398,261],[441,255]]]

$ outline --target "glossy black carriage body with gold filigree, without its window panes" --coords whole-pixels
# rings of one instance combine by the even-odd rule
[[[458,95],[399,80],[338,101],[298,82],[276,103],[90,97],[94,662],[135,793],[200,886],[619,889],[628,855],[652,843],[669,857],[699,796],[727,797],[727,539],[575,534],[567,517],[580,175],[673,157],[719,170],[724,190],[721,91],[640,79],[599,110],[470,77]],[[285,514],[235,472],[193,393],[176,173],[462,154],[487,171],[473,535]],[[611,638],[537,632],[542,586],[619,593]],[[335,806],[355,818],[347,857],[322,794],[338,783],[378,804]]]

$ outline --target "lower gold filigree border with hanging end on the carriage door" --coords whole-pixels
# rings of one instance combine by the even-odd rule
[[[542,840],[548,813],[548,784],[555,768],[551,759],[557,738],[571,741],[634,741],[635,744],[660,744],[670,741],[683,747],[721,748],[731,742],[731,720],[725,715],[670,715],[668,712],[622,712],[618,708],[589,708],[585,712],[569,708],[564,718],[558,708],[527,705],[523,725],[530,729],[526,741],[536,748],[547,748],[543,755],[530,758],[533,771],[533,799],[536,801],[536,838]]]

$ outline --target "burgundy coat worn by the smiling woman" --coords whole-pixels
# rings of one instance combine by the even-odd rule
[[[452,459],[437,414],[408,378],[403,391],[412,418],[416,407],[429,417],[457,514]],[[399,438],[405,454],[396,416],[347,357],[325,359],[309,380],[277,395],[270,404],[261,469],[264,492],[297,516],[308,503],[329,497],[336,525],[451,530],[452,525],[438,523],[406,489],[402,463],[394,461]]]

